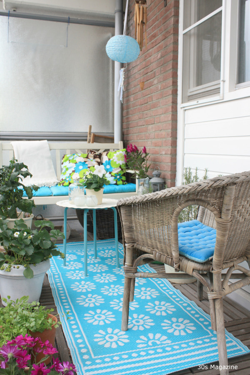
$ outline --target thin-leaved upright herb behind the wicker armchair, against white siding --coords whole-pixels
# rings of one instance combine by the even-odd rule
[[[208,168],[205,168],[204,170],[204,176],[202,179],[198,177],[198,168],[195,168],[195,172],[192,172],[191,167],[184,168],[183,173],[183,184],[187,185],[196,181],[200,180],[207,180],[208,178]],[[197,215],[198,206],[197,205],[191,205],[188,207],[185,207],[184,210],[181,211],[178,222],[183,223],[185,221],[194,220]]]

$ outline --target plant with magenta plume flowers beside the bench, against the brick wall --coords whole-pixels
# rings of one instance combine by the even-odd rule
[[[138,147],[134,144],[130,144],[126,148],[127,155],[124,155],[125,162],[127,164],[127,168],[134,171],[133,177],[137,178],[147,178],[148,177],[148,169],[150,165],[148,165],[149,153],[144,146],[141,151],[139,151]]]

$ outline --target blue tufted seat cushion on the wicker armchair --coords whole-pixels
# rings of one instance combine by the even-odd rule
[[[216,229],[198,220],[178,224],[179,253],[199,263],[205,263],[214,255]]]

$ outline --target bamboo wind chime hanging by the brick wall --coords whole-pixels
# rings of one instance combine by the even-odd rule
[[[135,0],[135,39],[140,50],[143,47],[143,34],[145,30],[145,48],[147,49],[147,2],[146,0]]]

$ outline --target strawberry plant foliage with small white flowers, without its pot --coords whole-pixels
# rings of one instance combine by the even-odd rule
[[[64,238],[64,234],[54,229],[54,224],[49,220],[36,220],[36,229],[29,228],[24,220],[15,220],[13,228],[8,228],[7,219],[0,218],[0,245],[4,252],[0,252],[0,269],[10,272],[12,267],[24,266],[24,276],[33,278],[30,265],[38,264],[47,259],[64,254],[57,249],[55,242]],[[45,227],[51,228],[48,232]]]

